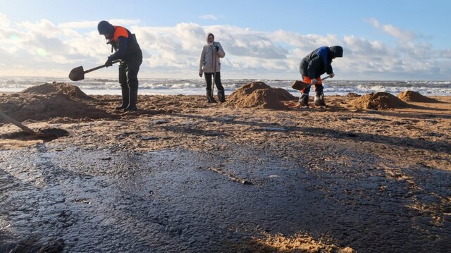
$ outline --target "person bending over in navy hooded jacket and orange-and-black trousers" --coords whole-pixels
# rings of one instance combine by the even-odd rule
[[[325,107],[323,94],[323,82],[321,82],[321,75],[327,73],[330,78],[333,78],[332,60],[335,57],[343,56],[343,48],[340,46],[320,47],[315,49],[309,55],[305,56],[299,64],[299,72],[302,75],[302,80],[315,87],[315,106]],[[301,97],[299,97],[299,104],[304,108],[309,108],[309,92],[310,86],[301,90]]]

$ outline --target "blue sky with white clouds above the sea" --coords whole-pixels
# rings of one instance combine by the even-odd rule
[[[451,80],[451,1],[0,0],[0,76],[67,77],[104,64],[108,20],[135,33],[140,78],[199,78],[213,32],[223,79],[299,79],[299,62],[340,45],[335,80]],[[114,78],[117,68],[87,74]]]

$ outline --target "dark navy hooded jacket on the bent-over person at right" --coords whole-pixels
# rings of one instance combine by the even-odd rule
[[[309,78],[319,78],[323,73],[330,75],[333,73],[332,59],[335,57],[342,57],[343,49],[340,46],[334,47],[320,47],[305,56],[299,64],[299,71],[301,75]]]

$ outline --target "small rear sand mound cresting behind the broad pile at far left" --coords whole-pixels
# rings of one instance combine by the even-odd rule
[[[29,87],[22,91],[22,93],[35,93],[35,94],[65,94],[75,99],[91,99],[85,92],[82,92],[79,87],[69,85],[64,82],[52,82],[44,83],[43,85],[36,85]]]

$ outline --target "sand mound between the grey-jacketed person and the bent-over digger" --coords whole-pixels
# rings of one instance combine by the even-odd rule
[[[237,108],[285,110],[287,108],[278,95],[284,97],[286,94],[280,90],[273,89],[264,82],[251,82],[230,94],[225,104]]]

